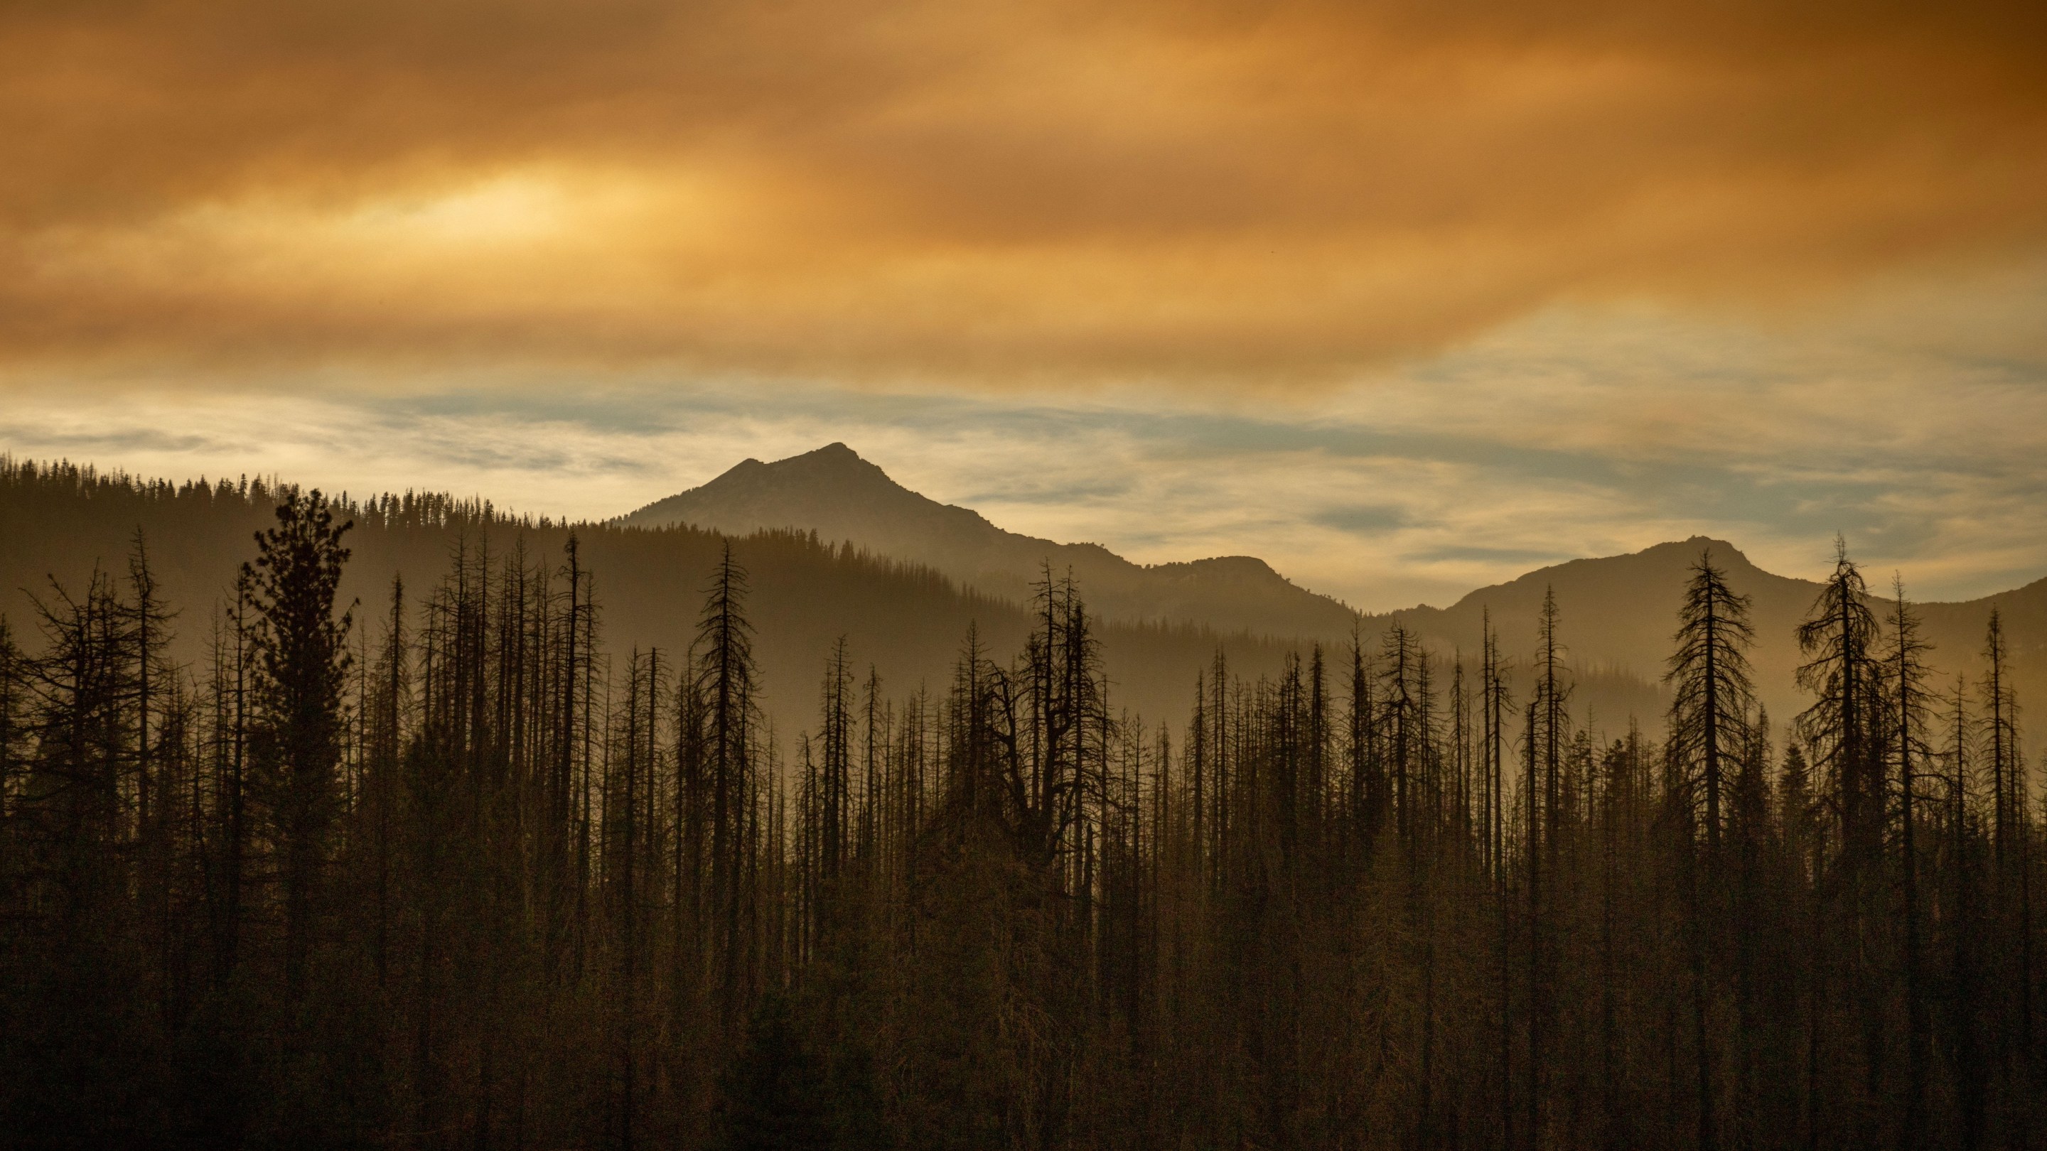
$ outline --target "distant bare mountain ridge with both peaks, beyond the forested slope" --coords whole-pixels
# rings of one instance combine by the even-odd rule
[[[1791,719],[1808,702],[1795,684],[1799,651],[1793,629],[1820,594],[1820,584],[1765,571],[1728,541],[1693,537],[1627,555],[1541,567],[1478,588],[1447,608],[1423,604],[1359,616],[1335,598],[1288,582],[1263,559],[1236,555],[1138,565],[1095,543],[1007,532],[978,512],[903,487],[845,444],[774,463],[743,461],[710,483],[614,522],[686,522],[741,535],[761,528],[817,530],[827,541],[854,541],[878,555],[925,563],[964,586],[1015,602],[1030,598],[1030,586],[1050,563],[1056,573],[1073,569],[1087,602],[1107,619],[1191,623],[1220,633],[1335,645],[1347,641],[1353,625],[1376,637],[1400,621],[1445,655],[1476,655],[1482,621],[1490,612],[1502,651],[1519,657],[1523,668],[1535,649],[1543,594],[1554,588],[1570,662],[1580,676],[1603,676],[1597,696],[1584,702],[1597,705],[1595,711],[1615,723],[1625,713],[1644,723],[1656,719],[1652,713],[1662,705],[1654,684],[1670,651],[1679,596],[1701,555],[1709,553],[1736,592],[1754,602],[1756,647],[1750,655],[1756,694],[1777,721]],[[1883,590],[1881,580],[1871,582],[1873,590]],[[1977,674],[1992,606],[2004,612],[2014,686],[2022,698],[2047,698],[2047,580],[1969,602],[1916,604],[1924,637],[1934,645],[1934,666],[1949,676],[1945,686],[1957,672]],[[1881,614],[1883,604],[1877,610]]]

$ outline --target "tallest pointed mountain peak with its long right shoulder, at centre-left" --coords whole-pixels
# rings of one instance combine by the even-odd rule
[[[741,461],[702,487],[657,500],[620,526],[694,524],[727,535],[796,528],[852,541],[876,555],[921,563],[1011,602],[1032,584],[1073,571],[1089,606],[1124,623],[1197,623],[1220,633],[1273,637],[1349,633],[1341,602],[1288,582],[1263,559],[1224,555],[1138,565],[1095,543],[1052,543],[1007,532],[978,512],[940,504],[888,477],[845,444],[761,463]]]

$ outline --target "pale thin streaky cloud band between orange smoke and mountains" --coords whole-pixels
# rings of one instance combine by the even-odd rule
[[[745,457],[845,440],[1009,530],[1142,563],[1259,555],[1371,610],[1693,535],[1816,578],[1844,532],[1871,571],[1902,569],[1934,600],[2037,580],[2047,371],[1959,354],[1941,326],[1896,317],[1871,344],[1875,322],[1791,338],[1554,309],[1314,406],[538,369],[489,393],[452,375],[395,395],[332,371],[278,377],[272,393],[16,387],[0,449],[606,518]]]

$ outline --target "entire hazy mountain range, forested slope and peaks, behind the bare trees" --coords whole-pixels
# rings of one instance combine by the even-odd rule
[[[780,496],[780,512],[774,510],[776,483],[782,481],[757,477],[786,477],[800,471],[784,467],[796,461],[811,461],[804,467],[823,465],[821,471],[837,469],[843,481],[839,494],[847,498],[835,520],[804,522],[788,514],[794,502],[786,494]],[[1279,670],[1294,637],[1337,649],[1349,641],[1355,616],[1343,604],[1288,584],[1255,559],[1140,567],[1093,545],[1056,545],[1003,532],[966,508],[948,508],[895,485],[880,469],[841,446],[796,461],[741,465],[714,483],[663,502],[684,508],[667,514],[708,518],[710,526],[741,532],[737,539],[692,526],[639,528],[610,522],[575,528],[583,563],[596,578],[604,631],[614,651],[635,645],[657,645],[665,653],[686,649],[702,604],[700,582],[729,539],[753,571],[757,653],[782,731],[813,723],[819,674],[831,643],[841,635],[847,637],[854,664],[864,668],[872,662],[892,684],[890,692],[919,682],[942,692],[968,627],[978,629],[993,653],[1007,657],[1030,629],[1028,614],[1017,606],[1030,594],[1028,573],[1046,559],[1060,571],[1071,565],[1097,610],[1105,600],[1120,608],[1120,619],[1101,627],[1103,659],[1118,692],[1116,707],[1132,707],[1175,729],[1193,676],[1208,666],[1218,643],[1228,649],[1236,672],[1257,678]],[[745,483],[725,483],[733,477]],[[866,487],[854,487],[854,481]],[[702,496],[718,485],[755,492],[755,506],[770,510],[755,510],[749,520],[743,512],[718,508],[716,500]],[[790,485],[794,492],[802,487]],[[811,489],[817,489],[815,481]],[[870,500],[854,498],[862,492]],[[688,508],[690,500],[698,506]],[[901,522],[890,522],[876,508],[897,508]],[[714,518],[721,514],[735,518]],[[860,522],[862,516],[868,518],[866,524]],[[776,518],[804,530],[753,530]],[[268,520],[270,498],[260,485],[174,487],[84,469],[41,471],[0,463],[0,621],[12,623],[14,635],[33,647],[37,610],[31,596],[51,600],[51,578],[78,594],[94,567],[125,575],[139,528],[164,596],[182,608],[174,625],[178,657],[203,664],[213,612],[233,582],[235,565],[254,553],[252,535]],[[913,530],[919,522],[925,526],[921,532]],[[813,539],[809,528],[817,528],[821,539]],[[405,578],[409,602],[420,604],[456,551],[473,555],[487,547],[502,557],[524,547],[536,561],[545,557],[553,565],[559,563],[567,535],[565,524],[491,518],[479,506],[444,498],[407,500],[403,512],[364,508],[348,537],[354,559],[344,575],[342,598],[360,600],[356,619],[375,635],[393,575]],[[854,539],[866,555],[825,539]],[[933,541],[946,539],[954,541],[954,571],[978,571],[978,582],[962,586],[935,565],[925,567],[929,559],[907,561],[919,555],[942,557],[944,549]],[[919,547],[925,551],[917,553]],[[1447,608],[1417,606],[1359,623],[1367,639],[1376,641],[1388,625],[1400,621],[1443,655],[1462,651],[1470,659],[1478,653],[1480,623],[1490,610],[1502,649],[1519,664],[1517,692],[1525,698],[1535,616],[1543,592],[1554,588],[1562,612],[1560,639],[1578,682],[1574,711],[1580,719],[1591,713],[1609,733],[1623,727],[1629,715],[1654,731],[1664,709],[1658,680],[1676,627],[1679,596],[1691,563],[1703,551],[1711,551],[1738,592],[1754,598],[1756,688],[1771,715],[1785,721],[1808,702],[1793,682],[1799,662],[1793,629],[1820,584],[1765,571],[1728,541],[1693,537],[1629,555],[1574,559],[1480,588]],[[1116,588],[1114,596],[1105,594],[1103,584]],[[1883,610],[1881,602],[1875,606]],[[2047,580],[1959,604],[1920,604],[1922,635],[1934,645],[1930,662],[1941,686],[1951,686],[1957,674],[1979,674],[1984,625],[1992,606],[2004,612],[2012,686],[2022,705],[2039,707],[2047,700]],[[1343,655],[1333,653],[1333,662],[1341,668]],[[2029,743],[2039,748],[2039,737]]]

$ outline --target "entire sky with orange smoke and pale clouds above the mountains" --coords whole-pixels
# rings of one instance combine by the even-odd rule
[[[843,440],[1363,608],[2047,575],[2047,10],[0,6],[0,451],[612,516]]]

